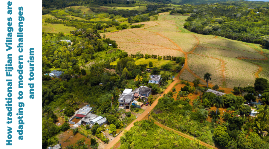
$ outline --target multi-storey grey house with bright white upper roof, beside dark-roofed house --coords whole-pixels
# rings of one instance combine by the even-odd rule
[[[119,101],[119,108],[130,108],[132,101],[134,100],[135,93],[132,92],[133,89],[125,89],[123,93],[120,95]]]

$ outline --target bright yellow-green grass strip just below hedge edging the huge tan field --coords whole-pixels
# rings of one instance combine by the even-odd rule
[[[145,58],[140,58],[138,60],[135,59],[135,64],[136,65],[140,65],[140,64],[149,64],[149,62],[151,61],[153,63],[153,67],[158,67],[158,68],[161,68],[162,65],[164,64],[167,64],[167,63],[170,63],[172,64],[172,69],[175,69],[176,66],[178,66],[178,64],[175,63],[175,61],[172,61],[172,60],[158,60],[158,59],[153,59],[153,58],[148,58],[148,59],[145,59]],[[115,60],[114,62],[111,62],[110,65],[117,65],[117,62],[120,60],[120,58],[117,58],[117,60]]]

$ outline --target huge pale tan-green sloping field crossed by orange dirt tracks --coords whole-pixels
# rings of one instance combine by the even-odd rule
[[[209,86],[253,86],[256,77],[269,79],[269,50],[260,45],[234,41],[213,35],[199,35],[184,29],[188,16],[160,13],[158,21],[140,22],[143,28],[107,32],[129,54],[185,57],[179,77],[203,80],[204,73],[212,74]]]

